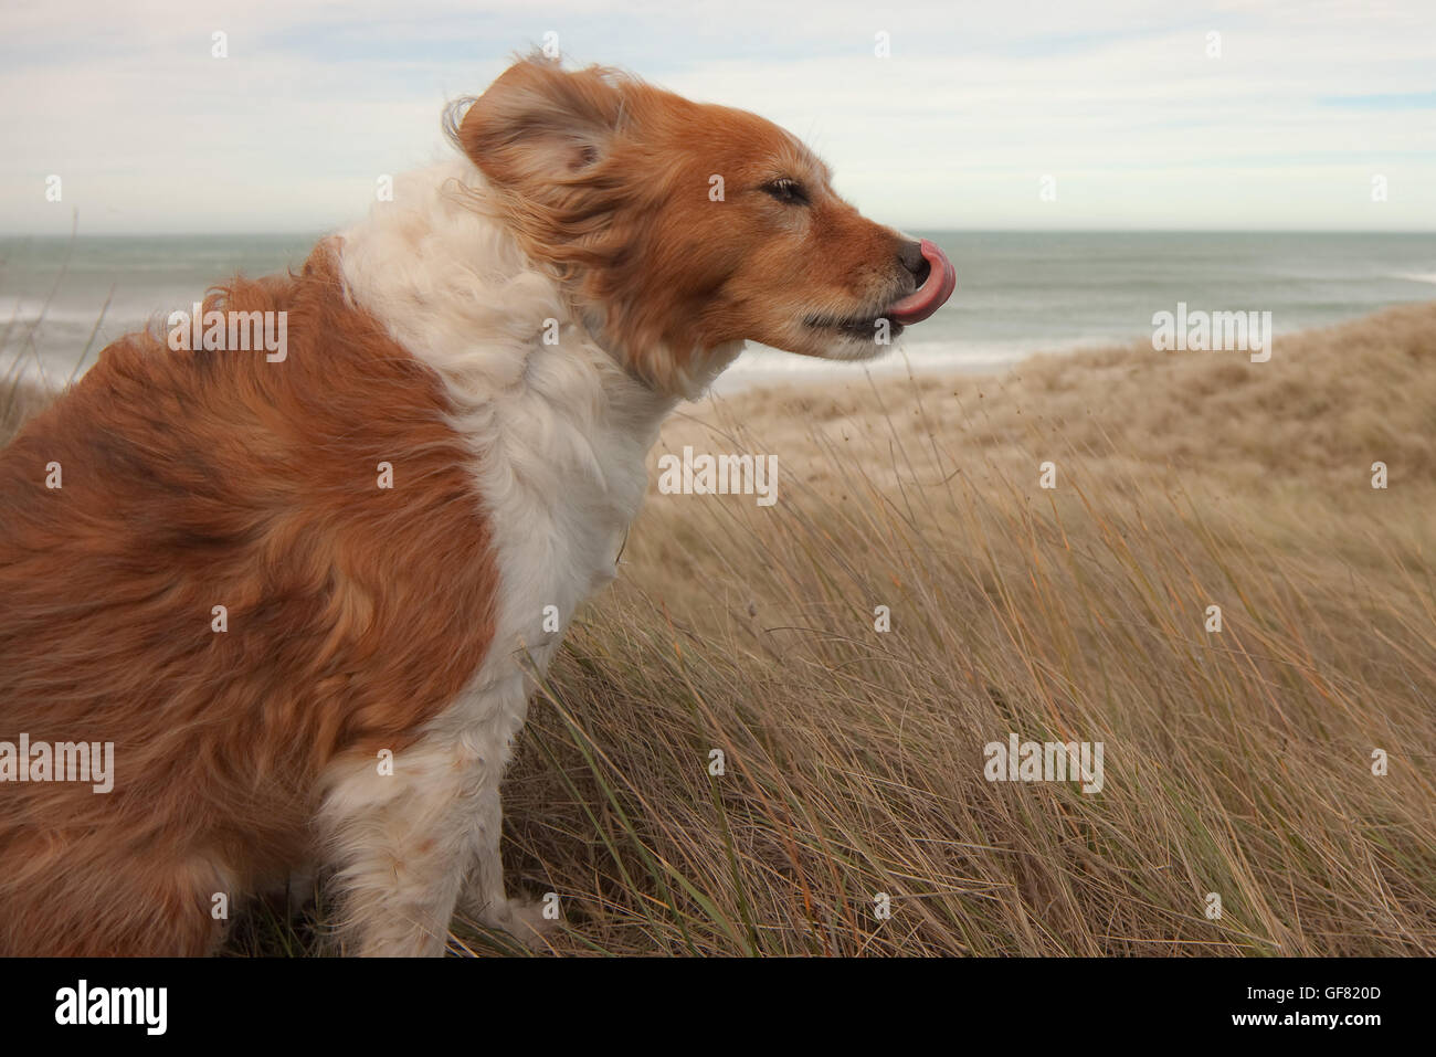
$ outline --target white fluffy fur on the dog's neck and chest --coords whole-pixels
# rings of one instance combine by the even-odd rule
[[[613,577],[673,399],[595,343],[557,283],[474,210],[482,192],[465,161],[402,177],[392,204],[343,234],[342,256],[355,303],[444,379],[493,534],[494,645],[444,722],[498,720],[511,735],[524,658],[546,668],[577,606]]]

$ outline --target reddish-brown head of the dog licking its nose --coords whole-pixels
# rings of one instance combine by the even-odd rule
[[[526,251],[663,389],[742,340],[875,356],[956,284],[941,250],[866,220],[784,129],[615,70],[521,60],[452,111],[451,134]]]

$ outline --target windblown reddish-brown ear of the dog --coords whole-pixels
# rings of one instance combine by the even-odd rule
[[[612,149],[623,116],[613,76],[524,59],[462,116],[451,111],[451,136],[491,181],[541,200],[546,188],[580,182]]]

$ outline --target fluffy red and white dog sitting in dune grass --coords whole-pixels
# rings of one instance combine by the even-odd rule
[[[211,292],[281,360],[132,335],[0,452],[0,740],[113,744],[108,793],[0,755],[0,954],[204,954],[312,863],[349,952],[537,928],[500,777],[661,421],[744,340],[860,359],[952,293],[751,113],[541,59],[465,103],[452,162]]]

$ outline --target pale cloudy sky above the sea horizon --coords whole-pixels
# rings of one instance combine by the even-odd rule
[[[1436,231],[1436,0],[6,0],[0,234],[340,227],[546,39],[909,230]]]

